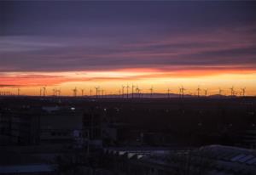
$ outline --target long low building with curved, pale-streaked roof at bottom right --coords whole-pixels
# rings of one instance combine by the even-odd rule
[[[122,175],[253,175],[256,151],[210,145],[195,150],[105,149],[107,168]]]

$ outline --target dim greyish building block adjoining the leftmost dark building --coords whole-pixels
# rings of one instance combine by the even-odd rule
[[[43,108],[40,116],[40,144],[82,144],[87,137],[83,111],[73,107]]]

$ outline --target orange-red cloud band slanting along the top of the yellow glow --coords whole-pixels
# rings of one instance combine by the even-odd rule
[[[20,73],[13,72],[0,75],[0,88],[5,87],[38,87],[56,86],[65,82],[124,82],[141,81],[157,78],[195,78],[205,76],[218,76],[224,74],[250,75],[256,73],[254,69],[241,67],[229,68],[180,68],[164,67],[163,69],[120,69],[115,71],[79,71],[79,72],[41,72]]]

